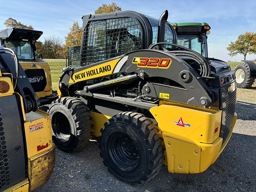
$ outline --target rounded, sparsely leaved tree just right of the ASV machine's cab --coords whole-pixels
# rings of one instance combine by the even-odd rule
[[[42,54],[47,59],[62,59],[64,45],[59,36],[50,36],[44,38],[42,44]]]

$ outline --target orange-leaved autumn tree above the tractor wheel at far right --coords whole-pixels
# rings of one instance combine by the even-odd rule
[[[239,35],[236,41],[231,41],[227,50],[229,51],[229,56],[233,57],[237,54],[242,54],[245,60],[247,53],[256,53],[256,33],[246,31],[245,34]]]

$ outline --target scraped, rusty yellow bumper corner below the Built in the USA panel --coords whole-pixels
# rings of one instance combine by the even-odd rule
[[[52,148],[28,158],[28,178],[30,191],[48,181],[53,172],[55,163],[55,145]]]

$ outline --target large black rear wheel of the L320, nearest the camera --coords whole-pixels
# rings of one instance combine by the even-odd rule
[[[121,180],[143,184],[160,171],[164,144],[150,119],[123,112],[111,117],[104,127],[99,148],[109,172]]]

